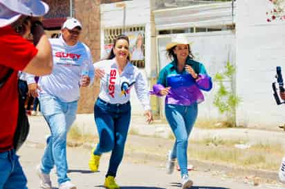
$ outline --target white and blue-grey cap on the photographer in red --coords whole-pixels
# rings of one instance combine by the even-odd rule
[[[0,0],[0,28],[17,21],[21,14],[41,17],[48,10],[48,5],[39,0]]]

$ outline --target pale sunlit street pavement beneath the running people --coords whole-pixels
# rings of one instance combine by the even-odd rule
[[[75,124],[82,126],[84,130],[88,130],[89,126],[93,124],[93,132],[95,133],[95,125],[92,119],[79,116]],[[89,123],[90,122],[90,123]],[[88,125],[88,126],[87,126]],[[133,125],[140,125],[134,123]],[[27,142],[19,150],[21,164],[24,172],[28,178],[28,188],[39,188],[39,179],[35,173],[35,166],[39,163],[44,152],[45,136],[48,135],[48,126],[42,117],[30,117],[30,135]],[[141,126],[141,125],[140,125]],[[145,128],[151,128],[145,124]],[[153,127],[153,130],[156,128]],[[91,132],[91,131],[90,131]],[[154,134],[157,132],[154,131]],[[248,135],[248,134],[246,134]],[[147,138],[144,138],[147,139]],[[90,172],[88,168],[90,149],[68,148],[68,176],[71,177],[73,183],[77,185],[78,189],[87,188],[104,188],[104,175],[107,171],[109,154],[104,155],[100,161],[100,172]],[[175,171],[172,175],[166,175],[164,162],[157,161],[142,161],[138,156],[131,155],[126,152],[125,158],[119,168],[117,181],[121,189],[175,189],[181,188],[179,172]],[[258,186],[253,186],[252,181],[245,182],[243,179],[235,177],[221,177],[212,171],[195,170],[190,172],[190,177],[194,181],[193,189],[252,189],[252,188],[273,188],[281,189],[280,185],[269,185],[260,183]],[[51,172],[53,181],[53,189],[57,188],[57,177],[55,170]],[[283,188],[284,189],[284,188]]]

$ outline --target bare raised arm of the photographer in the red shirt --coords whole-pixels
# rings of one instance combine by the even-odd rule
[[[50,74],[53,71],[53,57],[48,37],[44,34],[44,28],[37,25],[31,32],[38,52],[23,71],[37,76]]]

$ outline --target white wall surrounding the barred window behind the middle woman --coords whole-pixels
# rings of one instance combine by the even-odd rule
[[[145,26],[145,68],[140,69],[149,83],[151,76],[151,30],[154,28],[151,23],[151,0],[124,1],[126,6],[126,27]],[[124,14],[122,8],[116,5],[119,3],[102,4],[101,15],[101,56],[104,55],[104,28],[122,28]],[[134,88],[131,90],[131,108],[133,115],[143,115],[143,106],[136,97]]]

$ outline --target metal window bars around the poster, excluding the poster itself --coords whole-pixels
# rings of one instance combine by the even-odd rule
[[[127,34],[128,32],[143,32],[145,36],[145,27],[138,26],[138,27],[127,27],[125,28],[105,28],[104,29],[104,44],[113,44],[113,40],[118,37],[120,34]],[[145,40],[144,40],[145,41]],[[145,51],[145,42],[143,43],[143,49]],[[145,54],[145,52],[143,52]],[[145,59],[143,60],[131,60],[131,63],[138,68],[145,68]]]

